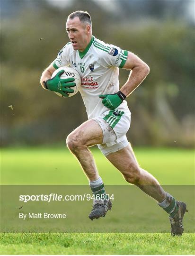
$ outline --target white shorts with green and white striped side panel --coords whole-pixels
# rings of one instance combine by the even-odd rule
[[[97,146],[104,155],[114,153],[129,144],[126,137],[131,123],[129,110],[108,110],[93,120],[99,124],[103,132],[103,142]]]

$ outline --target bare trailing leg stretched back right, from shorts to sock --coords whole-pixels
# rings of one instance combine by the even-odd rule
[[[138,165],[130,145],[107,155],[106,158],[124,175],[128,183],[138,186],[143,192],[159,202],[166,198],[166,192],[159,182]]]

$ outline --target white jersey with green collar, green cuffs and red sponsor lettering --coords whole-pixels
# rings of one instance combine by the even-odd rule
[[[80,73],[80,94],[88,119],[92,119],[108,110],[98,96],[119,91],[119,68],[124,66],[127,55],[127,51],[92,36],[83,52],[74,50],[71,42],[65,45],[53,61],[53,67],[58,69],[68,65]],[[127,102],[123,101],[117,110],[129,111]]]

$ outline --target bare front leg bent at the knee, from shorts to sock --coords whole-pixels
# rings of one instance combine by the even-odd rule
[[[93,155],[88,147],[101,144],[102,141],[102,129],[94,120],[89,120],[81,124],[69,134],[66,140],[68,148],[79,160],[89,181],[97,180],[99,175]]]

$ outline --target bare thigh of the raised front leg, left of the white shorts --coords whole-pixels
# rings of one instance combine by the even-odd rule
[[[95,120],[88,120],[81,124],[71,132],[70,137],[73,137],[86,146],[102,144],[103,141],[102,129]]]

